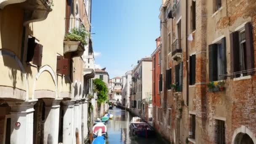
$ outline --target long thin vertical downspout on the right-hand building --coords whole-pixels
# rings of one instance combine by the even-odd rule
[[[188,24],[187,24],[187,12],[188,12],[188,0],[186,0],[186,87],[187,87],[187,91],[186,91],[186,95],[187,95],[187,106],[189,106],[189,75],[188,75],[188,40],[187,40],[187,35],[188,35],[188,32],[187,32],[187,27],[188,27]]]

